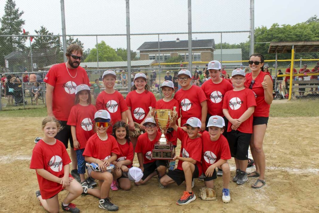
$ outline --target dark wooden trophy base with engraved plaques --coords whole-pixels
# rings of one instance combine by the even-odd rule
[[[167,142],[167,144],[161,144],[156,142],[154,144],[154,149],[152,150],[152,160],[173,160],[175,156],[174,146],[172,142]]]

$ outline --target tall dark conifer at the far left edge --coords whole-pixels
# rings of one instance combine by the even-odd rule
[[[13,0],[7,0],[4,6],[4,15],[1,20],[0,34],[2,35],[22,35],[22,25],[25,21],[21,19],[24,12],[16,8]],[[27,34],[27,33],[26,33]],[[8,55],[17,50],[24,50],[24,43],[27,37],[0,37],[0,56]],[[4,65],[4,60],[0,60],[0,64]]]

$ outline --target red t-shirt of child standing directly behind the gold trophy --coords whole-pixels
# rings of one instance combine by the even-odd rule
[[[169,102],[165,102],[163,99],[160,99],[156,102],[155,110],[159,109],[169,109],[173,110],[173,107],[176,107],[177,115],[178,118],[181,117],[180,115],[180,108],[179,108],[179,103],[176,99],[172,99]],[[176,121],[176,124],[178,126],[178,122]],[[177,145],[177,133],[176,131],[172,131],[171,133],[167,133],[166,135],[167,141],[171,141],[174,146]]]

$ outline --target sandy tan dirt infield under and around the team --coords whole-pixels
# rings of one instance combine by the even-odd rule
[[[250,188],[256,178],[241,186],[231,182],[230,203],[221,200],[221,178],[215,181],[218,201],[202,201],[197,196],[196,201],[177,206],[175,202],[185,185],[160,189],[157,180],[151,179],[145,186],[132,186],[128,192],[111,192],[112,202],[119,206],[118,212],[319,212],[318,119],[270,118],[264,140],[267,186]],[[45,212],[35,197],[35,171],[29,169],[34,138],[42,135],[41,121],[42,118],[0,118],[0,212]],[[234,160],[229,163],[233,177]],[[137,157],[134,164],[138,165]],[[196,180],[196,195],[203,185]],[[59,194],[60,202],[66,193]],[[74,203],[81,212],[105,212],[98,208],[98,199],[90,195],[79,197]]]

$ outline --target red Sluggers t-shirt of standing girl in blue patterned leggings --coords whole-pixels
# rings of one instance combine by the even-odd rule
[[[84,149],[86,141],[94,134],[93,119],[96,112],[94,105],[82,106],[77,104],[71,108],[67,125],[75,126],[79,149]],[[74,150],[77,150],[74,148]]]

